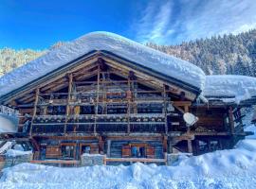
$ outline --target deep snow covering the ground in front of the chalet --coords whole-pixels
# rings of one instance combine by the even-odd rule
[[[254,126],[247,130],[254,131]],[[234,149],[181,158],[174,166],[59,168],[22,163],[4,169],[0,188],[256,188],[256,135]]]

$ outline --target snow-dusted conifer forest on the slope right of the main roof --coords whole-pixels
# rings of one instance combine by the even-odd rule
[[[182,60],[191,61],[207,75],[256,77],[256,29],[238,35],[214,36],[178,45],[147,45]]]

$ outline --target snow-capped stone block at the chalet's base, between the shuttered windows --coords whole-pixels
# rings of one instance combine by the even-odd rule
[[[82,166],[93,166],[104,164],[105,155],[101,154],[82,154],[81,165]]]

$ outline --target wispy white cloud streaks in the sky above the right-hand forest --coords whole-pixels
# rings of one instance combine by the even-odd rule
[[[137,41],[181,43],[256,27],[255,0],[151,1],[134,26]]]

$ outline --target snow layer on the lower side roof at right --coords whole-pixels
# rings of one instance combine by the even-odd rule
[[[256,77],[236,75],[207,76],[203,95],[239,103],[256,96]]]

